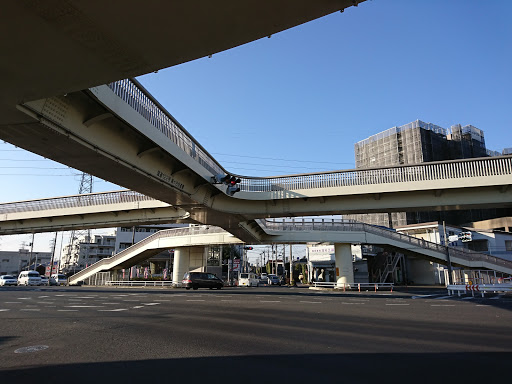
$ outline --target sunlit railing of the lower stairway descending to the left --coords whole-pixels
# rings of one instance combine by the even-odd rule
[[[185,227],[185,228],[164,229],[162,231],[158,231],[158,232],[154,233],[151,236],[146,237],[145,239],[142,239],[138,243],[122,250],[119,253],[116,253],[112,257],[104,258],[104,259],[97,261],[94,264],[91,264],[89,267],[74,274],[71,277],[71,279],[73,279],[73,281],[79,281],[79,280],[81,280],[80,278],[82,276],[88,274],[89,271],[94,270],[101,266],[106,266],[108,264],[115,263],[116,261],[125,257],[127,254],[130,254],[134,251],[137,251],[138,249],[143,248],[146,244],[151,243],[152,241],[154,241],[156,239],[161,239],[161,238],[166,238],[166,237],[175,237],[175,236],[187,236],[187,235],[205,235],[205,234],[222,233],[222,232],[225,232],[222,228],[202,226],[202,225]]]

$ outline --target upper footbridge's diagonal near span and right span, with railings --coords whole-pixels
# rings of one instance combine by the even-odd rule
[[[2,139],[246,241],[258,239],[248,229],[264,217],[512,206],[512,156],[283,177],[240,175],[240,191],[231,196],[214,180],[231,173],[133,79],[25,102],[18,110],[30,122],[1,127]]]

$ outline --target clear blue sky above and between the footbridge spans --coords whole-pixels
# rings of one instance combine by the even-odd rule
[[[350,169],[354,143],[416,119],[472,124],[501,151],[512,147],[511,16],[508,0],[369,0],[139,80],[241,175]],[[0,159],[2,202],[78,191],[76,170],[7,143]]]

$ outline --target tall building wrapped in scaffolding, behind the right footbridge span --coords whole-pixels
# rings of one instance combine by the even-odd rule
[[[505,149],[503,154],[509,152],[510,148]],[[462,127],[460,124],[453,125],[448,130],[421,120],[393,127],[355,144],[356,168],[417,164],[489,155],[501,155],[501,153],[486,149],[482,130],[472,125]],[[461,225],[511,214],[500,209],[473,209],[451,212],[356,214],[344,217],[394,228],[430,221],[446,221]]]

